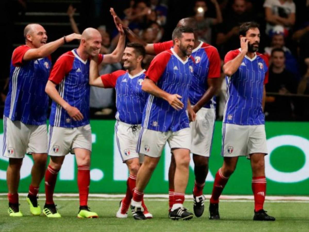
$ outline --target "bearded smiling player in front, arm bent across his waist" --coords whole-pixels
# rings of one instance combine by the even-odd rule
[[[172,38],[174,48],[153,59],[142,84],[142,90],[150,96],[144,108],[142,130],[136,148],[138,153],[145,154],[145,158],[138,171],[131,201],[131,211],[135,219],[145,219],[142,213],[143,191],[159,162],[166,142],[169,143],[176,161],[175,204],[169,217],[174,220],[189,220],[193,217],[193,214],[183,207],[191,145],[188,116],[191,120],[196,116],[188,102],[194,63],[193,57],[188,57],[194,45],[193,30],[189,27],[176,27]]]

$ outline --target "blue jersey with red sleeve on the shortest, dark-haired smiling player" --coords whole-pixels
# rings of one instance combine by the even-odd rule
[[[104,88],[116,89],[116,119],[127,124],[141,124],[148,93],[142,91],[145,71],[131,76],[118,70],[101,76]]]

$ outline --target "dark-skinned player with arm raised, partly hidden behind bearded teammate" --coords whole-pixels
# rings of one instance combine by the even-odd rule
[[[111,9],[112,15],[115,12]],[[115,23],[121,20],[114,17]],[[215,122],[215,93],[218,88],[220,77],[220,57],[215,47],[198,40],[197,21],[193,18],[181,19],[177,27],[187,26],[194,31],[194,46],[192,56],[195,59],[193,66],[194,75],[189,88],[189,100],[193,111],[197,114],[197,119],[190,123],[191,128],[191,153],[193,153],[195,184],[193,187],[193,210],[197,217],[201,217],[204,212],[203,188],[208,174],[208,160],[212,147],[212,137]],[[125,32],[130,41],[137,41],[145,46],[146,53],[159,54],[173,47],[173,41],[156,44],[146,44],[138,38],[129,27]],[[172,153],[171,166],[169,169],[169,206],[174,202],[174,176],[176,164],[175,156]]]

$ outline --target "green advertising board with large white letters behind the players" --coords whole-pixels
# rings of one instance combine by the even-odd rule
[[[0,120],[2,124],[2,120]],[[122,163],[114,137],[114,120],[92,120],[91,193],[125,193],[128,170]],[[204,194],[210,194],[214,176],[222,165],[221,157],[222,122],[216,122],[209,173]],[[309,123],[267,122],[266,135],[269,155],[265,158],[267,194],[308,195],[309,194]],[[3,128],[0,127],[0,148]],[[171,159],[170,150],[165,148],[145,193],[167,193],[167,173]],[[19,192],[28,192],[33,161],[26,156],[21,169]],[[6,167],[8,159],[0,156],[0,192],[7,192]],[[231,176],[223,194],[252,194],[250,162],[239,158],[235,173]],[[58,175],[55,192],[73,193],[77,188],[77,166],[74,155],[67,155]],[[192,193],[194,184],[193,161],[187,193]],[[42,181],[40,192],[44,192]]]

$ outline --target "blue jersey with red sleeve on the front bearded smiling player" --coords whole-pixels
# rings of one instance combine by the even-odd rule
[[[143,112],[142,127],[162,132],[175,132],[189,127],[186,108],[193,65],[193,57],[183,61],[173,49],[160,53],[151,61],[146,77],[167,93],[180,95],[184,108],[177,111],[166,100],[149,95]]]

